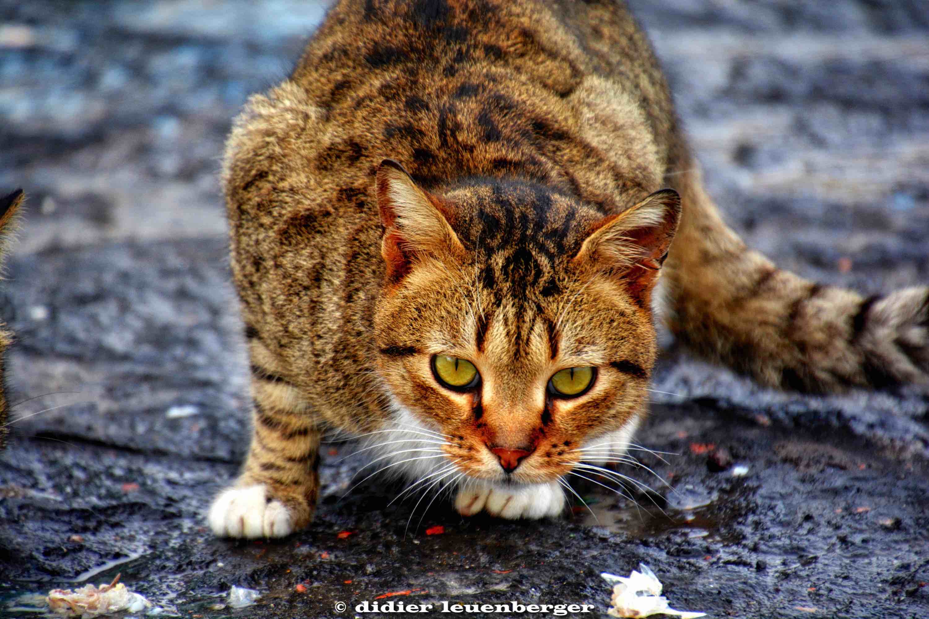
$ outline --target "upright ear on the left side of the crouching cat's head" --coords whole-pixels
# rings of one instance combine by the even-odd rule
[[[426,193],[397,161],[381,161],[377,169],[377,208],[384,225],[381,255],[387,278],[398,280],[424,256],[460,256],[464,246],[449,224],[449,209]]]

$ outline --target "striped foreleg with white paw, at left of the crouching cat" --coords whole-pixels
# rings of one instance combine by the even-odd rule
[[[316,509],[321,432],[293,385],[262,366],[252,371],[252,445],[207,520],[222,537],[283,537],[307,526]]]

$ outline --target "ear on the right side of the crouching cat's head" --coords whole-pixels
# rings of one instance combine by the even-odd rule
[[[620,277],[638,301],[647,301],[681,218],[681,197],[661,189],[631,209],[595,224],[575,264],[588,263]]]

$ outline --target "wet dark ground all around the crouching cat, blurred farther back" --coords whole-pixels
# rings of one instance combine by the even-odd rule
[[[929,282],[929,7],[633,4],[752,245],[867,293]],[[203,510],[247,446],[218,158],[322,11],[0,2],[0,188],[30,195],[0,296],[21,402],[0,454],[0,616],[117,573],[185,617],[348,617],[378,597],[599,616],[598,574],[639,561],[674,608],[713,617],[929,616],[929,393],[772,392],[670,339],[638,438],[674,454],[641,457],[673,490],[625,471],[655,492],[582,482],[590,509],[561,521],[465,520],[442,499],[388,507],[401,485],[343,496],[365,461],[334,443],[307,531],[210,535]],[[263,597],[218,608],[233,585]]]

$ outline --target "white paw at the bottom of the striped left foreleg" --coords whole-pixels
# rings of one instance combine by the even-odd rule
[[[294,531],[290,511],[268,501],[265,484],[227,488],[216,496],[207,516],[220,537],[283,537]]]

